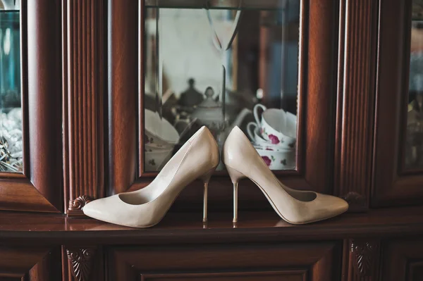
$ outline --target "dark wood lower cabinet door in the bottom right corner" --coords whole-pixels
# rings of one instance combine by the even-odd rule
[[[423,240],[386,242],[381,275],[384,281],[423,280]]]

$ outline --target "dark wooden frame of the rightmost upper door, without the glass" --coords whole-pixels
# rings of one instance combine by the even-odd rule
[[[372,206],[421,204],[422,173],[404,173],[412,0],[381,1]]]

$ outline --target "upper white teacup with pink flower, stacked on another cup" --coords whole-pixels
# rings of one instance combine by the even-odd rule
[[[259,116],[259,108],[263,113]],[[262,104],[254,107],[254,118],[260,127],[260,134],[272,144],[293,144],[297,138],[297,116],[282,109],[269,108]]]

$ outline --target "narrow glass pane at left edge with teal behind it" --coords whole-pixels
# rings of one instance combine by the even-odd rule
[[[0,0],[0,171],[22,171],[20,0]]]

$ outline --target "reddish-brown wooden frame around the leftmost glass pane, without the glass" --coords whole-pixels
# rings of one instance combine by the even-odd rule
[[[1,173],[0,209],[60,212],[60,2],[21,5],[23,173]],[[28,36],[31,35],[31,36]]]

